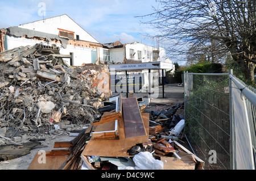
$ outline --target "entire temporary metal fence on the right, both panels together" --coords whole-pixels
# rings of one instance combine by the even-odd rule
[[[185,136],[205,170],[255,169],[255,105],[243,93],[256,91],[232,71],[183,78]]]

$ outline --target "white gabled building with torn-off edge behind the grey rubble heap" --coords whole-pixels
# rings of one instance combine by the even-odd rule
[[[102,44],[66,14],[9,27],[3,40],[5,50],[36,43],[55,44],[60,54],[72,54],[72,62],[64,58],[68,65],[94,64],[104,59]]]

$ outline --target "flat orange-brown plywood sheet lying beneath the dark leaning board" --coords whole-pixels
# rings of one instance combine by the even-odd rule
[[[142,120],[146,128],[146,136],[126,138],[123,119],[118,121],[119,140],[92,140],[88,142],[82,155],[85,156],[100,156],[100,157],[128,157],[129,150],[132,146],[147,142],[149,132],[149,113],[142,113]]]

